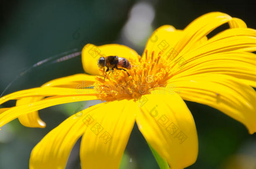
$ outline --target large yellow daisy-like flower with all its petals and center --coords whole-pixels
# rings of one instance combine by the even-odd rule
[[[225,23],[229,29],[206,37]],[[184,30],[158,28],[142,56],[123,45],[87,44],[82,63],[91,75],[55,79],[0,98],[0,103],[17,99],[16,106],[0,109],[0,126],[18,118],[24,126],[44,127],[37,112],[42,108],[102,100],[50,131],[32,150],[30,169],[64,169],[81,136],[82,169],[116,169],[135,121],[170,168],[182,169],[198,155],[195,122],[183,99],[217,108],[250,134],[256,131],[255,50],[256,30],[219,12],[197,18]],[[115,69],[104,79],[97,60],[109,55],[126,58],[131,68]]]

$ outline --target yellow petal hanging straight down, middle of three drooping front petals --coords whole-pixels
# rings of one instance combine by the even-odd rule
[[[81,141],[82,169],[118,169],[133,129],[138,105],[134,101],[113,101],[100,106],[86,118]]]

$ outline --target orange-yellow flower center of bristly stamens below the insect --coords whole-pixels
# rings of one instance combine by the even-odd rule
[[[113,101],[119,99],[139,99],[144,94],[149,94],[152,88],[165,87],[171,77],[171,67],[167,59],[158,53],[154,57],[154,51],[149,56],[138,60],[128,60],[131,63],[130,69],[112,70],[104,72],[99,69],[102,76],[96,76],[97,82],[94,84],[94,91],[102,101]],[[129,73],[129,76],[128,76]]]

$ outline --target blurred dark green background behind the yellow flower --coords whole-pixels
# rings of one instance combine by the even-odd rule
[[[22,69],[52,55],[86,43],[120,43],[141,54],[152,31],[170,24],[183,29],[192,20],[212,11],[221,11],[243,19],[256,28],[254,4],[239,2],[189,0],[14,0],[0,1],[0,92]],[[83,73],[81,57],[34,68],[19,77],[5,94],[37,87],[55,78]],[[95,101],[69,103],[39,112],[45,129],[26,128],[18,120],[0,131],[0,169],[28,169],[33,147],[51,129],[77,107]],[[196,122],[199,156],[188,169],[256,169],[256,134],[214,108],[186,101]],[[13,106],[8,102],[3,106]],[[74,146],[67,169],[79,169],[79,142]],[[121,169],[157,169],[158,165],[143,136],[134,127],[125,150]]]

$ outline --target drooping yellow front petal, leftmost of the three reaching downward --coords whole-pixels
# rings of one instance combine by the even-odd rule
[[[101,104],[91,106],[63,121],[50,131],[31,152],[30,169],[65,169],[72,147],[87,128],[84,119]]]

